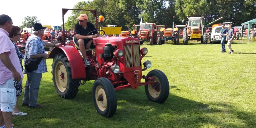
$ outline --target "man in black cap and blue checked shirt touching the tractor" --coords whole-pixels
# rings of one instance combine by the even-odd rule
[[[24,97],[22,106],[29,106],[29,108],[41,108],[42,105],[37,103],[39,86],[42,78],[42,73],[47,72],[46,68],[46,58],[49,56],[45,53],[44,46],[46,47],[58,47],[62,43],[51,44],[41,40],[41,37],[44,35],[44,29],[39,23],[35,23],[31,28],[34,33],[28,37],[26,42],[26,51],[24,57],[24,63],[26,61],[36,61],[39,58],[43,58],[38,65],[38,69],[28,72],[27,69],[24,69],[24,74],[27,74],[27,81],[24,89]]]

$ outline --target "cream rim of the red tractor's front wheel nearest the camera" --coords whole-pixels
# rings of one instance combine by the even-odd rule
[[[95,100],[101,111],[105,111],[107,108],[107,98],[105,90],[101,86],[97,86],[95,90]]]

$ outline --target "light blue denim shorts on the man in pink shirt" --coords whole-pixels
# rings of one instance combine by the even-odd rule
[[[16,105],[16,91],[13,78],[0,84],[0,109],[2,112],[12,112]]]

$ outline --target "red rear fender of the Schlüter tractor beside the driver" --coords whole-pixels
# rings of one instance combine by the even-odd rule
[[[71,68],[72,79],[86,78],[83,59],[75,47],[63,45],[55,47],[48,58],[54,58],[59,53],[66,54]]]

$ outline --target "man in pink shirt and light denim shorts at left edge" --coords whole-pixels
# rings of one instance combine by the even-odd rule
[[[22,68],[15,46],[8,37],[13,21],[0,15],[0,128],[12,128],[12,113],[16,104],[14,82],[23,78]]]

